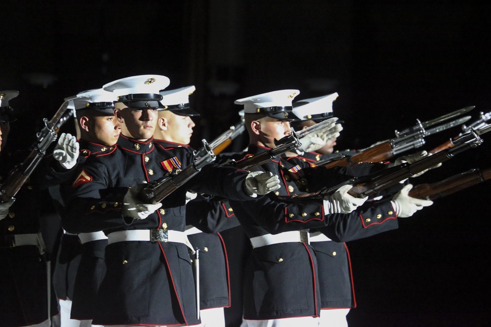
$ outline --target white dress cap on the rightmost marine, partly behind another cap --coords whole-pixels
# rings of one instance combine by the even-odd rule
[[[332,102],[337,97],[337,93],[332,93],[327,96],[297,101],[293,104],[293,112],[301,120],[325,120],[332,117]]]

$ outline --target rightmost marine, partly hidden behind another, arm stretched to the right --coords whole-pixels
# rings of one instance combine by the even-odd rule
[[[300,119],[300,121],[295,122],[295,126],[301,128],[331,117],[332,102],[337,96],[337,93],[334,93],[294,103],[293,110]],[[318,152],[305,151],[297,158],[315,165],[320,160],[337,156],[337,153],[331,154],[335,139],[326,141],[326,145],[316,149]],[[340,171],[340,174],[348,176],[347,178],[350,176],[364,176],[385,167],[386,164],[383,163],[353,164]],[[401,188],[402,185],[392,187],[388,191],[394,194]],[[389,210],[392,211],[390,208]],[[396,217],[384,217],[382,214],[367,217],[360,223],[363,228],[348,229],[342,233],[333,233],[329,227],[310,230],[310,244],[315,251],[319,267],[321,293],[319,326],[348,326],[346,315],[350,308],[356,307],[350,254],[345,242],[398,228],[398,219]]]

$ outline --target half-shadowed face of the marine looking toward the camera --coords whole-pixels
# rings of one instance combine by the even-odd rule
[[[118,108],[119,105],[119,108]],[[122,105],[123,108],[120,106]],[[158,112],[156,108],[140,109],[128,108],[123,103],[116,103],[123,119],[121,133],[139,141],[146,141],[152,137],[157,124]]]

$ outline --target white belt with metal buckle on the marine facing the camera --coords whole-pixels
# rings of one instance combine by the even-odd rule
[[[108,243],[126,241],[175,242],[185,244],[194,254],[194,249],[185,232],[168,229],[120,230],[108,235]]]

